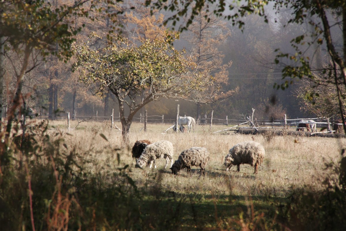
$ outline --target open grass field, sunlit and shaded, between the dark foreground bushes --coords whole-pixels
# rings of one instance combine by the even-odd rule
[[[121,132],[110,128],[109,122],[85,122],[77,127],[76,122],[72,122],[71,127],[76,128],[69,131],[63,122],[49,124],[52,126],[49,133],[63,134],[69,149],[76,148],[85,153],[85,158],[97,160],[99,165],[89,166],[93,171],[116,171],[129,166],[128,175],[143,193],[138,209],[147,219],[148,230],[160,230],[157,227],[166,230],[172,227],[177,230],[246,230],[244,227],[249,227],[251,230],[258,219],[264,221],[265,230],[271,229],[274,223],[275,229],[284,230],[284,221],[275,214],[288,201],[288,196],[297,188],[323,190],[326,178],[330,184],[337,182],[338,175],[326,165],[337,165],[340,152],[346,147],[346,140],[335,138],[273,136],[270,132],[266,135],[211,134],[209,125],[196,126],[189,134],[174,133],[172,129],[162,134],[170,125],[148,124],[144,132],[140,123],[131,125],[130,144],[126,146]],[[120,123],[116,125],[121,128]],[[225,128],[225,125],[213,125],[212,130]],[[157,169],[135,168],[131,148],[136,140],[142,139],[171,141],[174,160],[181,151],[193,146],[207,148],[211,153],[207,176],[198,180],[197,167],[192,169],[191,177],[186,171],[174,176],[169,169],[163,169],[164,159],[156,161]],[[249,140],[261,143],[266,151],[258,174],[254,175],[249,165],[241,165],[240,172],[236,167],[226,172],[223,163],[228,150],[236,143]]]

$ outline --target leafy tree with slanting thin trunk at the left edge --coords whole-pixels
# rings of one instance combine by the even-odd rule
[[[52,2],[44,0],[0,1],[0,110],[6,70],[3,66],[4,56],[12,51],[20,57],[20,62],[17,62],[13,68],[16,89],[8,112],[4,145],[1,145],[0,150],[1,165],[7,165],[10,161],[7,152],[3,154],[3,151],[7,150],[9,144],[15,113],[23,103],[22,90],[26,74],[35,69],[41,61],[45,61],[48,55],[68,60],[72,56],[71,43],[74,41],[74,36],[81,30],[81,27],[74,27],[75,17],[91,17],[90,12],[100,9],[95,6],[99,1],[103,0],[69,1],[58,8],[53,7]],[[107,3],[112,4],[113,1]]]

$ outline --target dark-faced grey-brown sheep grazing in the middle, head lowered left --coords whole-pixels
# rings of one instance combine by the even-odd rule
[[[206,165],[209,161],[209,151],[206,148],[193,147],[182,151],[179,158],[174,162],[172,168],[172,173],[175,175],[181,169],[186,168],[188,173],[191,175],[191,166],[199,166],[201,171],[199,173],[198,179],[206,176]]]

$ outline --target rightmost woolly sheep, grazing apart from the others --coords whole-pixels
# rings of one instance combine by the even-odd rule
[[[240,171],[240,164],[249,164],[255,167],[254,174],[257,173],[257,168],[263,162],[265,151],[260,143],[254,141],[246,141],[238,143],[229,150],[229,154],[225,157],[226,171],[232,167],[237,166],[238,172]]]

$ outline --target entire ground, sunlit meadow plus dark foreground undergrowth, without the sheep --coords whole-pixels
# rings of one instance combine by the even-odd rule
[[[212,134],[225,125],[213,125],[212,131],[209,125],[196,125],[194,132],[182,134],[172,129],[163,133],[169,124],[148,124],[144,132],[143,124],[133,123],[126,145],[109,121],[72,121],[70,130],[62,120],[42,125],[47,127],[45,135],[34,132],[35,139],[21,151],[12,144],[13,161],[1,168],[2,230],[346,227],[346,158],[340,155],[345,139],[275,136],[271,131]],[[185,170],[173,175],[163,168],[164,159],[156,161],[156,169],[135,168],[131,148],[142,139],[172,142],[174,160],[193,146],[207,148],[207,176],[198,179],[198,167],[192,168],[191,176]],[[240,172],[236,167],[226,172],[228,150],[249,140],[266,151],[258,174],[249,165],[241,165]]]

